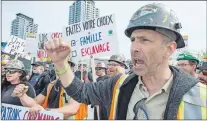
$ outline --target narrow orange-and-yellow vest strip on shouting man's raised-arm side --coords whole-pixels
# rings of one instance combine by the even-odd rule
[[[118,81],[116,82],[114,89],[113,89],[113,95],[112,95],[112,102],[111,102],[111,109],[109,114],[109,120],[114,120],[116,116],[116,107],[117,107],[117,100],[119,96],[119,90],[121,85],[123,84],[124,80],[128,77],[128,75],[122,75]]]

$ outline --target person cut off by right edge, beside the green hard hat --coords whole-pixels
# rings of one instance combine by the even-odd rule
[[[201,83],[207,85],[207,57],[200,62],[197,69],[199,70],[198,79]]]

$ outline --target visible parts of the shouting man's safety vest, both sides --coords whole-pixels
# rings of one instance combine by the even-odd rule
[[[128,75],[122,75],[114,86],[109,120],[115,120],[116,118],[116,108],[117,108],[119,90],[124,80],[127,77]],[[185,120],[185,119],[206,120],[207,119],[206,102],[207,102],[207,85],[198,83],[183,96],[183,99],[180,102],[178,108],[177,119],[178,120]]]

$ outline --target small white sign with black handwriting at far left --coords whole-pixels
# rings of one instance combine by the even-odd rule
[[[22,54],[24,53],[25,40],[11,35],[9,41],[7,42],[4,52],[9,54]]]

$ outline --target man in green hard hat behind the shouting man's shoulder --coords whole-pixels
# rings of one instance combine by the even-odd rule
[[[199,60],[191,54],[179,54],[177,57],[177,65],[182,68],[185,72],[189,73],[191,76],[197,78],[196,68],[199,64]]]

